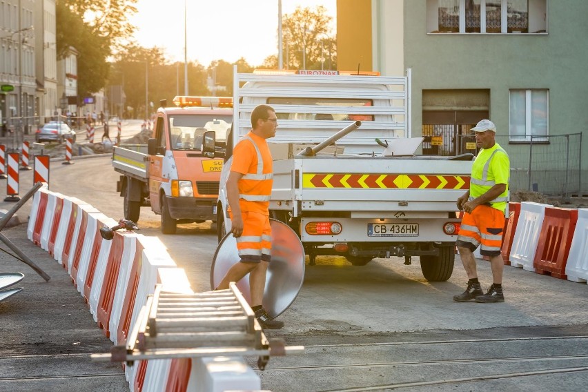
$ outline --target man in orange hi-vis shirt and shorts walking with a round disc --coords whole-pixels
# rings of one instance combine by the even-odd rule
[[[237,239],[240,261],[233,265],[217,290],[228,288],[249,274],[251,308],[265,329],[280,329],[284,322],[273,320],[262,305],[266,272],[271,262],[269,200],[273,184],[272,157],[266,139],[275,136],[277,117],[271,106],[259,105],[251,112],[252,129],[233,150],[226,193],[231,216],[231,233]]]

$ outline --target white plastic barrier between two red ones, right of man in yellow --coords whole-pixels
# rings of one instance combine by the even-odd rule
[[[543,224],[545,208],[553,207],[546,204],[522,202],[518,216],[517,231],[511,247],[511,266],[535,271],[533,260]]]

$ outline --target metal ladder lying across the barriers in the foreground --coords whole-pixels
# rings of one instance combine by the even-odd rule
[[[286,347],[284,340],[268,340],[255,313],[231,282],[228,290],[148,295],[125,346],[92,360],[126,362],[184,357],[259,356],[264,370],[271,355],[304,353],[304,346]]]

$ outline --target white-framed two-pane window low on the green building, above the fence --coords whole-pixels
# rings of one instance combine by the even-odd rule
[[[511,90],[509,141],[547,141],[549,90]]]

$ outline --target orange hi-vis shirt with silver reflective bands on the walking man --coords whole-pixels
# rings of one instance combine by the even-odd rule
[[[269,215],[273,160],[266,139],[249,131],[233,149],[231,171],[244,175],[237,183],[241,210]]]

